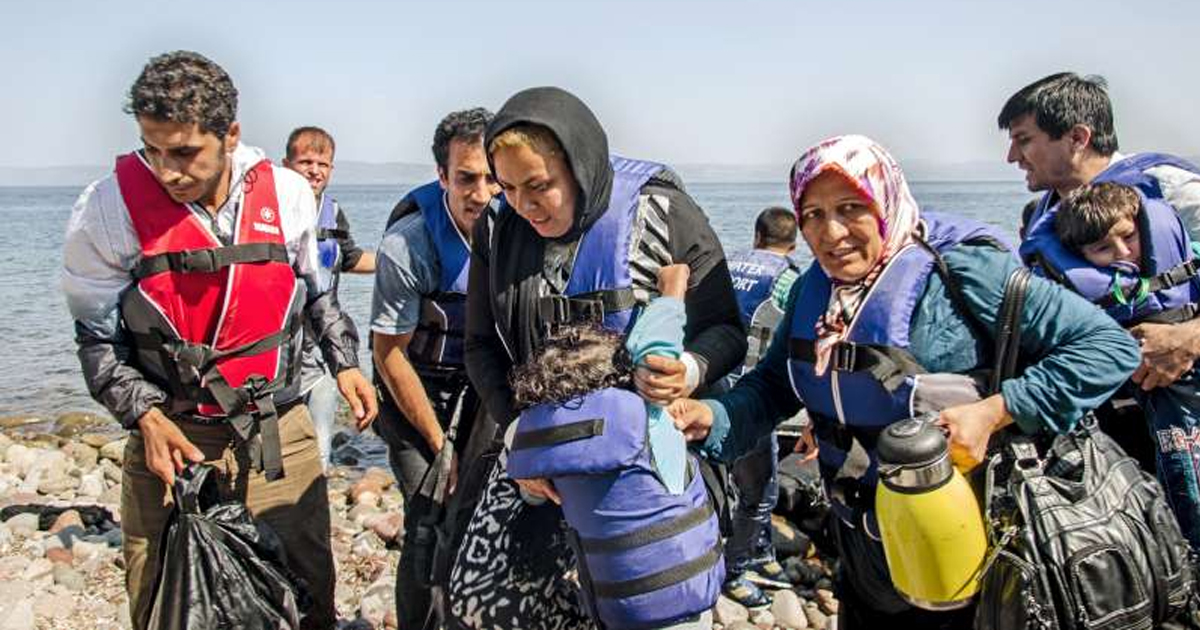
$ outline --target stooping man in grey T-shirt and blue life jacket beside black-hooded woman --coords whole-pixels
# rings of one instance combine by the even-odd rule
[[[433,529],[444,523],[437,522],[430,497],[421,493],[431,463],[443,449],[449,449],[446,454],[466,449],[463,461],[473,463],[470,454],[491,438],[462,354],[472,228],[499,193],[484,154],[484,130],[491,118],[486,109],[474,108],[438,124],[433,134],[438,179],[396,204],[379,244],[371,340],[377,385],[388,395],[376,432],[388,443],[406,504],[404,546],[396,570],[400,628],[421,628],[436,608],[426,584],[432,580]],[[476,437],[468,443],[473,433]],[[458,474],[456,460],[451,457],[445,480],[451,488]],[[469,497],[456,497],[455,503],[456,512],[469,516]],[[452,553],[438,557],[449,559]]]

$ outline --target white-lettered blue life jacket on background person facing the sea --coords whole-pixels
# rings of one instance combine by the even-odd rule
[[[767,353],[770,338],[784,319],[784,311],[772,300],[775,282],[784,271],[797,266],[790,257],[766,250],[738,252],[730,256],[727,263],[749,343],[742,368],[734,371],[742,373],[752,368]]]

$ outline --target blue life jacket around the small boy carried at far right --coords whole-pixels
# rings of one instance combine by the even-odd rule
[[[1158,180],[1145,173],[1164,164],[1200,173],[1196,167],[1171,156],[1139,154],[1115,162],[1092,180],[1093,184],[1110,181],[1130,186],[1141,197],[1138,214],[1140,276],[1097,268],[1063,246],[1055,232],[1057,203],[1043,209],[1031,222],[1021,244],[1021,257],[1039,274],[1096,302],[1127,326],[1147,320],[1192,319],[1200,300],[1192,242],[1178,214],[1163,199]]]

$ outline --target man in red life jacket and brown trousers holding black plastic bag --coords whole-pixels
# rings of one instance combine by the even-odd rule
[[[374,390],[358,335],[318,277],[312,191],[242,145],[238,91],[209,59],[150,60],[130,90],[143,149],[89,186],[67,227],[62,284],[91,395],[131,430],[121,533],[134,628],[145,628],[186,462],[278,534],[332,628],[329,498],[299,391],[301,319],[359,425]],[[230,620],[234,625],[236,620]]]

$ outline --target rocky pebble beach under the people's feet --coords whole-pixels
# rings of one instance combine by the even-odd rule
[[[127,629],[119,510],[124,433],[91,414],[66,414],[50,424],[53,432],[30,427],[38,425],[0,419],[0,630]],[[329,503],[340,626],[395,628],[404,523],[391,473],[334,466]],[[774,526],[780,559],[797,586],[774,590],[761,610],[722,596],[713,628],[836,628],[830,566],[799,528],[781,516]]]

